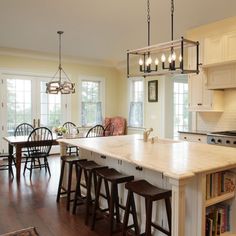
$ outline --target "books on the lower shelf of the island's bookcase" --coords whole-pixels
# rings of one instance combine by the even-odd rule
[[[230,231],[230,205],[218,204],[207,208],[206,236],[218,236]]]

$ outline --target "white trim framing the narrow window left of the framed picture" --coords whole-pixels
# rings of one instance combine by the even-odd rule
[[[129,122],[128,122],[128,129],[143,130],[144,126],[145,126],[145,115],[144,114],[145,114],[145,99],[146,99],[146,92],[145,92],[146,91],[146,89],[145,89],[146,83],[145,83],[145,80],[143,77],[133,77],[133,78],[128,79],[128,94],[129,94],[129,101],[128,101],[128,107],[127,107],[128,121],[129,121],[130,103],[132,102],[131,86],[134,81],[140,81],[140,80],[143,81],[143,126],[142,127],[133,127],[133,126],[130,126]]]

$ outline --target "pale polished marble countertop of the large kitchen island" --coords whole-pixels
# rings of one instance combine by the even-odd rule
[[[174,179],[236,167],[236,149],[217,145],[158,138],[153,144],[150,140],[144,142],[141,135],[61,139],[58,142],[127,161]]]

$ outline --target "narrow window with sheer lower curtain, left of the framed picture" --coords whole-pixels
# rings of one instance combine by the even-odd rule
[[[130,80],[129,126],[143,127],[144,83],[142,78]]]

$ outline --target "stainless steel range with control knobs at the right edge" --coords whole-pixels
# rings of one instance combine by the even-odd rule
[[[209,133],[207,134],[207,143],[236,147],[236,130]]]

